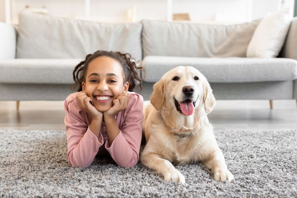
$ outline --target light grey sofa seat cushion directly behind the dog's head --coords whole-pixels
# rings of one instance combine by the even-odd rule
[[[157,82],[173,67],[192,66],[209,82],[260,82],[297,79],[297,61],[287,58],[196,58],[176,56],[146,56],[142,66],[144,81]]]

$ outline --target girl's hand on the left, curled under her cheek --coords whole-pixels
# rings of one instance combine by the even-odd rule
[[[98,111],[92,104],[92,99],[86,95],[86,93],[81,92],[77,96],[78,98],[78,104],[81,107],[81,109],[88,112],[93,119],[99,119],[103,117],[103,113]]]

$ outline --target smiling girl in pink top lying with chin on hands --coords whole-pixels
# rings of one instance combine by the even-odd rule
[[[71,166],[88,167],[95,156],[111,155],[119,166],[138,162],[143,98],[132,92],[138,76],[130,54],[96,51],[73,70],[78,92],[65,102],[67,158]]]

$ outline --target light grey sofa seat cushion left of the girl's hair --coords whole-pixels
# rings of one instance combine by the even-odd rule
[[[0,83],[72,84],[72,72],[82,59],[0,60]]]

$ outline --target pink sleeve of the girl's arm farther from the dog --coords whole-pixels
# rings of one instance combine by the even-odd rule
[[[88,167],[103,145],[102,134],[98,140],[92,133],[85,121],[87,118],[72,96],[65,100],[64,110],[69,164],[73,167]]]

